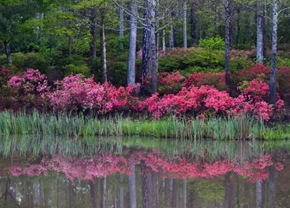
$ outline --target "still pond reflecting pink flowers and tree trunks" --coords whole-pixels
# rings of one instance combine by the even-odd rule
[[[0,207],[289,207],[290,142],[0,135]]]

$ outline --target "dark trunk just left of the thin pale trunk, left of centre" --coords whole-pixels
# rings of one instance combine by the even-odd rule
[[[92,35],[92,41],[90,41],[90,57],[97,57],[97,15],[96,8],[90,10],[90,34]]]

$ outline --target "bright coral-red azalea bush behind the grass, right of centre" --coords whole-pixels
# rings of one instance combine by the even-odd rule
[[[218,91],[213,86],[191,86],[189,89],[182,88],[177,95],[164,95],[159,98],[158,94],[149,97],[139,104],[140,108],[147,109],[155,119],[159,119],[167,113],[175,116],[191,113],[201,115],[204,112],[220,113],[234,106],[233,99],[228,93]]]

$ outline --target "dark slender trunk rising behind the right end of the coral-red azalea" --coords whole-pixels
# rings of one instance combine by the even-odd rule
[[[231,77],[230,77],[230,44],[231,44],[231,13],[232,6],[230,0],[225,0],[225,72],[226,72],[226,86],[231,90]]]

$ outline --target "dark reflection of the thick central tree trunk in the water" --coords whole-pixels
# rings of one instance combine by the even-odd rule
[[[141,160],[141,171],[142,171],[142,198],[143,198],[143,207],[151,208],[152,198],[151,198],[151,176],[148,171],[148,167],[145,164],[144,160]]]

